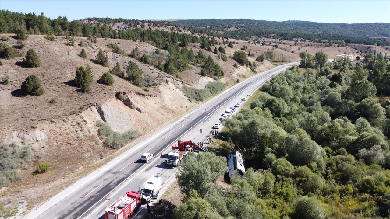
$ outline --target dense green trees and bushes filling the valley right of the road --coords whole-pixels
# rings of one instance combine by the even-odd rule
[[[368,56],[304,73],[294,65],[264,84],[218,136],[243,154],[244,179],[221,187],[225,157],[185,157],[177,179],[186,198],[174,218],[389,217],[390,101],[376,97],[372,74],[384,64],[383,80],[390,65]]]

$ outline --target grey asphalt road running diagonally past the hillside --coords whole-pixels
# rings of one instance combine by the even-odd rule
[[[243,102],[241,101],[242,97],[253,93],[273,75],[284,71],[293,64],[297,63],[280,65],[230,87],[176,122],[157,130],[156,134],[133,146],[116,159],[78,180],[32,210],[25,218],[104,218],[106,207],[126,191],[138,191],[138,187],[142,187],[152,175],[158,175],[163,180],[161,195],[174,181],[177,171],[177,168],[165,164],[165,156],[172,151],[172,143],[177,143],[178,139],[194,142],[205,141],[211,128],[216,122],[219,122],[226,108],[234,106],[237,102]],[[202,134],[200,134],[200,129],[203,129]],[[207,144],[205,146],[207,147]],[[145,152],[154,155],[148,163],[140,161],[141,155]],[[85,198],[83,198],[83,194],[86,195]],[[109,197],[111,200],[108,199]],[[135,217],[139,217],[141,214]]]

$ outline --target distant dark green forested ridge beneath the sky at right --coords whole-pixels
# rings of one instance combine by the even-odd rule
[[[232,26],[259,28],[268,32],[340,34],[354,37],[390,37],[390,23],[316,23],[310,21],[264,21],[250,19],[188,19],[173,21],[185,26],[227,31]]]

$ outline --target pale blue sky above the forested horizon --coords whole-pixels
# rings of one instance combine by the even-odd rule
[[[126,19],[302,20],[325,23],[390,23],[390,0],[306,1],[16,1],[0,0],[0,9],[35,12],[69,20],[87,17]]]

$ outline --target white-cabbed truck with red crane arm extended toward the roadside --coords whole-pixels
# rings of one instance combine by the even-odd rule
[[[207,148],[200,147],[198,144],[193,143],[191,140],[178,140],[177,147],[176,144],[172,144],[172,150],[176,150],[176,148],[179,148],[179,150],[168,153],[167,164],[170,166],[177,166],[179,162],[183,159],[183,157],[187,155],[190,151],[199,152],[199,150],[203,150],[205,152],[209,152]]]

